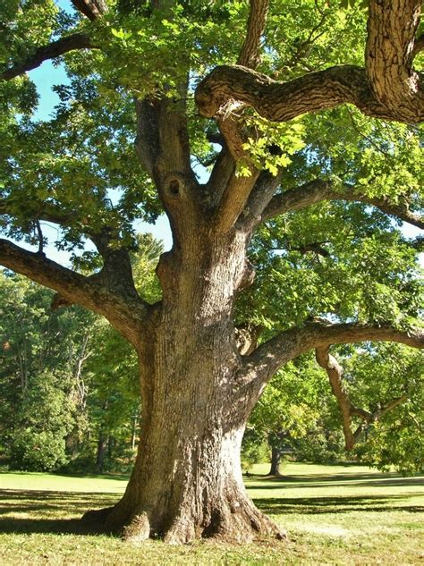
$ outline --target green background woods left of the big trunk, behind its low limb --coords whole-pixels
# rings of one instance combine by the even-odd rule
[[[134,278],[155,298],[162,248],[149,234],[138,242]],[[0,272],[0,290],[2,460],[28,470],[127,469],[140,425],[130,344],[81,308],[52,310],[54,293],[19,275]]]

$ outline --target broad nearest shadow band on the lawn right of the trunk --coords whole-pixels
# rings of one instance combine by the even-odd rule
[[[420,505],[403,505],[396,502],[404,502],[415,495],[365,495],[350,497],[307,497],[307,498],[267,498],[253,501],[258,505],[260,511],[267,514],[300,513],[316,515],[319,513],[346,513],[352,511],[409,511],[421,513],[424,507]]]

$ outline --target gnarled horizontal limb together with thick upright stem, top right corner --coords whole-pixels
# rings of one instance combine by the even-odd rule
[[[199,83],[200,114],[212,118],[232,104],[252,106],[274,122],[350,103],[377,118],[417,123],[424,119],[424,94],[411,69],[420,0],[371,0],[366,69],[330,67],[287,82],[240,65],[222,65]],[[402,29],[401,29],[402,28]]]

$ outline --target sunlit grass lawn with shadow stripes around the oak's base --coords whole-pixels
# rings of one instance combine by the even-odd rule
[[[78,523],[84,511],[114,503],[127,477],[0,473],[0,564],[424,566],[424,477],[300,463],[288,464],[283,478],[261,477],[266,471],[256,467],[246,486],[290,543],[137,547]]]

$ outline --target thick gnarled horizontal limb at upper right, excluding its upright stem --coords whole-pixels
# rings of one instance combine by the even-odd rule
[[[207,118],[218,117],[232,100],[239,109],[251,106],[272,122],[288,122],[301,114],[350,103],[369,116],[417,123],[424,119],[420,96],[419,90],[412,109],[387,108],[370,89],[365,69],[354,65],[330,67],[287,82],[242,66],[221,65],[199,83],[195,99],[199,113]]]

